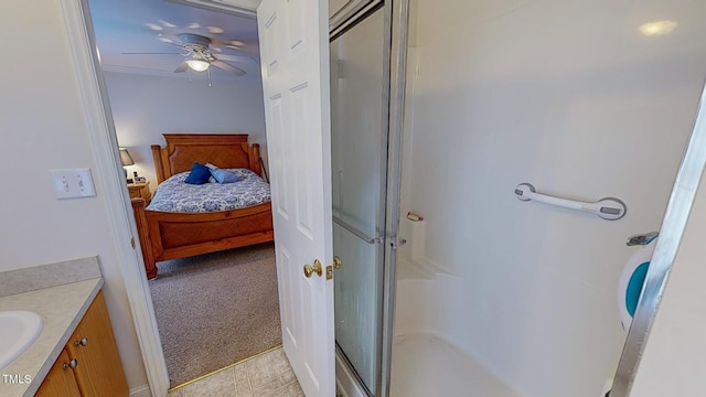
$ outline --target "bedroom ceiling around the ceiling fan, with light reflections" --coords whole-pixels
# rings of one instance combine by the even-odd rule
[[[180,43],[180,33],[195,33],[216,43],[211,45],[215,57],[218,57],[218,54],[246,55],[243,57],[244,61],[224,60],[244,69],[244,76],[235,76],[212,66],[212,79],[259,78],[255,18],[215,12],[165,0],[89,0],[88,3],[100,64],[106,71],[180,78],[189,78],[191,74],[193,78],[202,78],[201,75],[205,72],[173,73],[184,61],[180,55],[184,51],[168,43]],[[143,52],[171,54],[124,54]]]

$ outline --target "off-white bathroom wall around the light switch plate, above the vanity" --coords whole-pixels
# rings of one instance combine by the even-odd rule
[[[131,388],[147,384],[108,228],[97,196],[57,201],[50,169],[95,168],[58,0],[0,2],[10,62],[0,74],[0,271],[97,255],[120,356]],[[1,277],[1,276],[0,276]],[[1,386],[0,386],[1,387]],[[1,390],[0,390],[0,394]]]

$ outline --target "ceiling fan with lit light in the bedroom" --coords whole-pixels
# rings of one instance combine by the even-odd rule
[[[215,56],[211,52],[212,40],[193,33],[181,33],[179,34],[179,39],[181,40],[181,44],[176,44],[170,41],[165,41],[167,44],[176,45],[185,51],[185,53],[122,53],[124,55],[149,55],[149,54],[180,54],[188,60],[183,61],[176,68],[174,73],[186,72],[188,69],[192,69],[195,72],[204,72],[208,69],[210,66],[218,67],[225,72],[232,73],[236,76],[243,76],[245,71],[229,65],[223,61],[235,61],[235,62],[248,62],[254,61],[250,56],[240,56],[240,55],[227,55],[227,54],[218,54]]]

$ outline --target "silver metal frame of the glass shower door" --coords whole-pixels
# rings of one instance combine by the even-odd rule
[[[346,367],[357,388],[367,396],[388,397],[391,393],[392,344],[395,314],[395,273],[397,264],[397,248],[404,244],[399,232],[399,200],[402,183],[402,133],[405,117],[405,89],[407,74],[407,39],[409,22],[409,0],[370,0],[368,7],[361,7],[359,12],[350,19],[335,24],[331,23],[330,41],[332,42],[357,22],[374,12],[384,12],[384,54],[383,54],[383,112],[382,149],[386,153],[386,161],[381,165],[381,203],[384,208],[385,228],[378,230],[382,235],[383,266],[378,278],[381,285],[381,305],[378,310],[376,355],[378,374],[375,390],[370,390],[359,376],[353,365],[336,344],[336,355]],[[344,28],[342,28],[344,26]]]

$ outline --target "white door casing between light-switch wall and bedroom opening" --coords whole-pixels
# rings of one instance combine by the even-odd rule
[[[157,329],[154,308],[145,277],[142,251],[139,238],[136,238],[138,234],[130,197],[125,189],[125,175],[120,172],[115,124],[103,71],[99,67],[88,0],[62,0],[61,6],[78,84],[81,106],[86,119],[88,143],[96,167],[94,171],[98,180],[104,181],[103,194],[106,210],[114,214],[108,217],[107,226],[120,264],[120,273],[149,389],[152,396],[167,396],[169,374]]]

